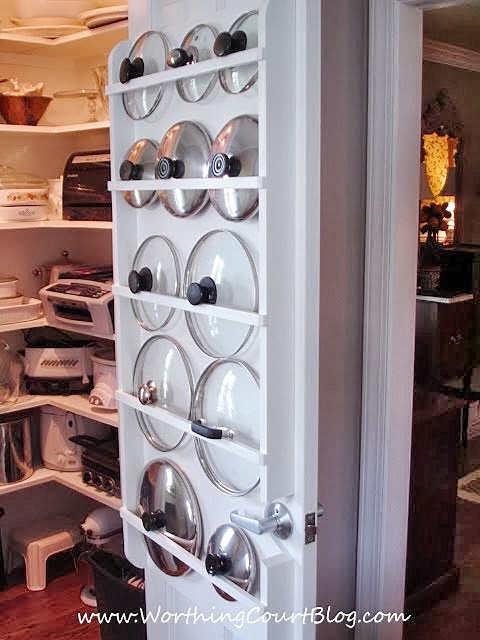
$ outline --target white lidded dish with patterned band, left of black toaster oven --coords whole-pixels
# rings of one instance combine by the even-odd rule
[[[47,217],[47,180],[0,165],[0,221],[28,222]]]

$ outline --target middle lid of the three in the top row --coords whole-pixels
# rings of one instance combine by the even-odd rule
[[[173,69],[194,64],[202,60],[208,60],[213,56],[213,44],[217,31],[208,24],[199,24],[193,27],[182,44],[177,49],[172,49],[167,55],[167,65]],[[193,78],[177,80],[176,87],[179,96],[186,102],[198,102],[206,98],[215,86],[217,73],[203,73]]]

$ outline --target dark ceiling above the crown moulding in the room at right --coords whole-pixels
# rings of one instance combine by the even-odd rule
[[[423,35],[480,52],[480,0],[423,12]]]

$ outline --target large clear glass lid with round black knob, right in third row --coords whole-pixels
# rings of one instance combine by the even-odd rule
[[[205,234],[193,247],[185,268],[183,295],[192,304],[217,304],[231,309],[256,311],[257,271],[243,240],[222,229]],[[213,315],[185,312],[197,346],[213,357],[238,353],[253,327]]]

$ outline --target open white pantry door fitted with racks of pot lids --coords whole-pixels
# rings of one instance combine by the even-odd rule
[[[246,14],[245,23],[242,16]],[[239,18],[240,25],[248,25],[245,50],[166,67],[165,51],[181,47],[192,28],[203,25],[199,31],[203,35],[208,27],[231,31]],[[145,568],[151,614],[148,640],[313,638],[317,628],[311,616],[316,602],[320,3],[133,0],[129,24],[129,41],[120,43],[110,56],[107,91],[121,513],[126,553]],[[122,61],[132,62],[134,44],[147,31],[161,32],[163,37],[154,35],[149,40],[152,46],[140,47],[144,75],[121,83]],[[195,37],[191,42],[198,44]],[[185,45],[185,52],[191,55],[192,49]],[[213,87],[204,98],[190,102],[182,98],[182,88],[195,93],[212,76]],[[248,86],[242,86],[246,77]],[[244,90],[236,93],[239,86]],[[149,111],[148,116],[139,117]],[[195,155],[191,148],[195,143],[188,140],[184,140],[185,162],[176,178],[156,178],[145,158],[137,170],[137,155],[129,155],[132,146],[140,140],[147,141],[141,145],[143,150],[161,142],[167,145],[165,133],[176,135],[178,123],[185,121],[199,125],[211,141],[222,131],[214,144],[225,150],[227,160],[238,147],[240,173],[200,179],[188,173],[187,156]],[[257,134],[252,122],[258,122]],[[246,133],[246,123],[254,127],[254,134]],[[237,133],[238,140],[229,147],[225,140]],[[120,166],[127,157],[130,164],[126,171],[123,167],[121,179]],[[180,187],[190,193],[209,190],[209,198],[194,215],[172,215],[169,210],[184,202]],[[125,193],[135,190],[140,200],[150,194],[149,202],[132,206],[132,198]],[[256,194],[258,212],[254,203],[240,219],[233,219],[233,213],[230,218],[219,213],[222,203],[228,214],[249,197],[255,201]],[[146,247],[157,249],[147,251]],[[156,277],[167,268],[167,254],[170,268],[175,271],[176,265],[178,273],[172,290],[165,284],[171,273],[164,280]],[[133,292],[130,272],[134,269],[138,276],[145,266],[153,271],[153,288],[150,282],[150,288]],[[199,284],[201,276],[217,278],[216,304],[194,306],[186,299],[187,285]],[[143,374],[149,380],[142,379]],[[190,395],[182,405],[179,397],[185,380]],[[142,385],[148,398],[144,395],[141,401]],[[193,435],[192,417],[205,418],[207,426],[238,429],[233,439]],[[171,444],[165,447],[168,450],[159,450],[157,436]],[[173,448],[178,440],[180,444]],[[168,513],[166,527],[144,528],[140,485],[145,470],[156,461],[172,463],[194,492],[186,510],[198,503],[201,523],[196,539],[201,534],[202,540],[197,555],[169,534]],[[291,516],[288,537],[251,530],[272,504],[282,505]],[[221,572],[211,575],[205,568],[210,537],[221,525],[232,524],[232,512],[240,516],[236,526],[243,527],[253,548],[256,577],[249,591]],[[248,519],[246,525],[242,516]],[[268,522],[275,524],[275,516]],[[149,548],[164,549],[190,570],[181,576],[167,575]],[[277,622],[282,615],[284,621]]]

